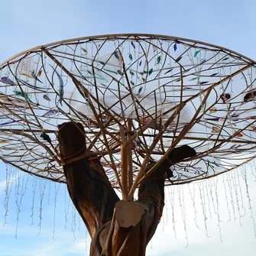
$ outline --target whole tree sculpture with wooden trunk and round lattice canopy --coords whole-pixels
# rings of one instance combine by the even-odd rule
[[[231,50],[160,35],[35,47],[0,66],[1,159],[66,183],[91,255],[145,255],[164,186],[256,156],[255,71]]]

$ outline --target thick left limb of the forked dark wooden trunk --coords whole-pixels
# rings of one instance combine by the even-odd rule
[[[83,125],[69,122],[58,128],[60,153],[63,160],[70,163],[63,166],[66,186],[93,238],[99,228],[112,219],[115,203],[119,199],[105,175],[99,157],[76,160],[86,151]]]

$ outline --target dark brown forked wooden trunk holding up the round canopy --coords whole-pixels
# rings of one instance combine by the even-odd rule
[[[135,226],[122,227],[115,208],[120,199],[100,158],[93,153],[81,157],[86,151],[84,132],[79,123],[64,123],[59,125],[58,141],[61,156],[69,163],[63,166],[66,186],[92,238],[90,255],[144,256],[163,212],[164,180],[167,172],[170,176],[170,161],[164,160],[138,190],[138,203],[146,209],[141,220]]]

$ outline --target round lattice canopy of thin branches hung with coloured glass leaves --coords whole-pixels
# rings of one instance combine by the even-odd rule
[[[80,122],[86,152],[102,157],[118,186],[188,144],[196,157],[172,167],[166,184],[206,179],[256,156],[255,62],[177,37],[115,34],[61,41],[0,66],[0,156],[37,177],[65,182],[57,125]]]

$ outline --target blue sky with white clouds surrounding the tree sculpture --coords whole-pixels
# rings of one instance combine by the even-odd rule
[[[1,10],[0,63],[42,44],[116,33],[185,37],[256,60],[254,0],[9,0],[1,2]],[[8,202],[6,173],[14,177]],[[254,173],[254,165],[248,165],[246,172],[238,169],[205,183],[167,188],[166,212],[147,255],[254,255]],[[5,164],[0,165],[0,241],[5,256],[89,255],[89,235],[65,186]]]

